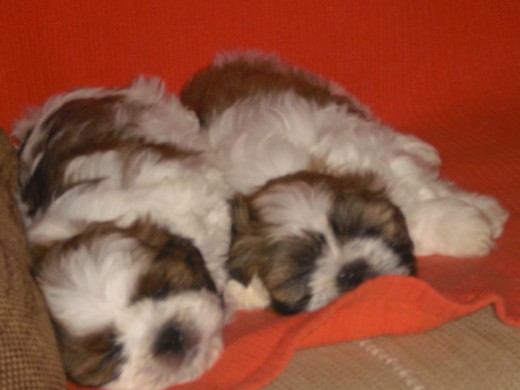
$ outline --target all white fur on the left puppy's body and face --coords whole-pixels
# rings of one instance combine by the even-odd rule
[[[229,245],[229,189],[212,162],[196,117],[167,95],[159,80],[140,78],[126,89],[82,89],[58,95],[21,121],[14,134],[25,140],[20,156],[22,186],[46,153],[36,151],[46,136],[45,121],[72,100],[112,95],[123,95],[126,104],[144,107],[137,118],[124,110],[113,113],[116,122],[126,126],[123,139],[198,153],[163,159],[146,147],[130,155],[114,148],[73,159],[64,174],[69,189],[43,212],[25,216],[32,245],[66,242],[95,223],[126,228],[137,220],[151,221],[192,240],[221,291]],[[57,136],[52,142],[67,140]],[[107,326],[117,331],[126,362],[107,388],[161,389],[196,379],[223,347],[221,332],[228,313],[214,293],[189,291],[160,301],[132,302],[136,281],[146,268],[143,257],[135,240],[114,233],[41,266],[38,281],[50,311],[69,332],[87,336]],[[178,369],[150,356],[152,340],[168,321],[185,324],[200,339]]]

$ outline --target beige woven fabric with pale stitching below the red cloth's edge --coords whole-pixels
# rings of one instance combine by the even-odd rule
[[[486,308],[420,335],[299,351],[265,389],[520,389],[520,328]]]

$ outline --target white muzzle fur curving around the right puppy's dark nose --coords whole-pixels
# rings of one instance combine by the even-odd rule
[[[329,240],[316,261],[309,282],[312,297],[306,310],[317,310],[337,298],[341,293],[337,284],[341,269],[359,260],[367,264],[374,276],[407,275],[409,272],[406,266],[400,264],[399,255],[382,238],[355,238],[343,245]]]

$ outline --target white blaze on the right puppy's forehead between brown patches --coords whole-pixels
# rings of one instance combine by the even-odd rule
[[[273,236],[300,235],[304,231],[325,234],[329,228],[331,194],[304,181],[277,184],[254,200],[265,222],[274,225]]]

